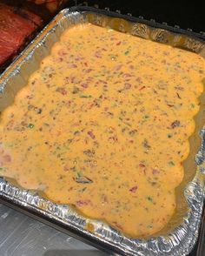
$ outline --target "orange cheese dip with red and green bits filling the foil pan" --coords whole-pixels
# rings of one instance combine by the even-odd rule
[[[204,76],[195,53],[66,30],[2,113],[0,174],[130,236],[158,232],[175,212]]]

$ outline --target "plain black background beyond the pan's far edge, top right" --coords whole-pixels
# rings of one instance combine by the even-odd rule
[[[73,1],[74,2],[74,1]],[[77,1],[85,3],[86,1]],[[179,25],[182,29],[205,32],[205,1],[138,1],[138,0],[89,0],[89,5],[98,4],[99,8],[121,10],[122,14],[131,13],[135,17],[155,19],[169,25]]]

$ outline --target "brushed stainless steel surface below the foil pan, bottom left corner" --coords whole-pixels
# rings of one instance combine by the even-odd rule
[[[1,256],[108,256],[0,204]]]

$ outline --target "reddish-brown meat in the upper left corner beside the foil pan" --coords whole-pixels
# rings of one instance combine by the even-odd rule
[[[67,0],[0,0],[0,73]]]

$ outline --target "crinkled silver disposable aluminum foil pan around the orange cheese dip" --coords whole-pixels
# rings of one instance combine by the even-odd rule
[[[17,91],[27,84],[28,77],[36,71],[43,57],[49,55],[52,45],[59,40],[63,30],[75,24],[88,22],[162,44],[195,51],[205,57],[205,44],[202,38],[199,38],[202,36],[195,33],[122,16],[106,10],[86,7],[66,9],[56,16],[0,77],[0,111],[12,104]],[[205,97],[201,101],[203,99],[205,102]],[[186,186],[181,185],[182,201],[178,202],[175,217],[155,236],[147,239],[126,237],[102,221],[84,218],[69,205],[54,204],[43,199],[38,192],[23,190],[17,187],[14,181],[8,181],[8,179],[0,178],[0,199],[10,202],[10,205],[15,205],[18,210],[24,209],[24,212],[31,212],[32,216],[40,217],[51,226],[64,232],[71,232],[78,239],[89,242],[109,253],[146,256],[187,255],[195,245],[198,236],[205,194],[205,167],[203,167],[205,129],[201,129],[205,124],[205,119],[202,118],[204,116],[202,111],[201,115],[197,116],[199,117],[195,120],[197,132],[189,141],[190,145],[194,145],[195,150],[193,150],[189,162],[185,163],[188,170],[194,174],[189,175],[191,178],[188,177],[185,180]],[[202,140],[198,136],[198,131],[200,131]],[[196,143],[197,141],[198,143]],[[90,226],[92,226],[91,229]]]

